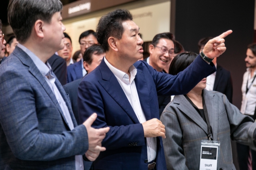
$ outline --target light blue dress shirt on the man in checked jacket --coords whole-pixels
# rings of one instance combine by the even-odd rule
[[[51,68],[50,64],[47,61],[46,61],[46,64],[43,63],[43,61],[41,61],[34,53],[32,53],[32,51],[30,51],[29,49],[27,49],[20,43],[18,43],[17,46],[20,47],[25,53],[28,54],[28,56],[35,63],[35,65],[38,68],[38,70],[40,71],[40,73],[42,73],[42,75],[44,76],[44,79],[46,80],[47,84],[49,85],[50,89],[54,93],[54,95],[60,105],[60,108],[64,114],[64,117],[65,117],[66,121],[68,122],[68,127],[70,128],[70,130],[73,130],[74,129],[73,121],[72,121],[70,113],[68,111],[66,102],[62,98],[60,91],[58,90],[57,86],[55,85],[56,77],[54,77],[54,75],[52,73],[52,68]],[[84,162],[83,162],[82,156],[76,155],[75,161],[76,161],[76,170],[84,170]]]

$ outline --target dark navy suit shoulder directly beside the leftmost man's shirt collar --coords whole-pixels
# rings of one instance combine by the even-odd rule
[[[57,79],[60,81],[61,85],[65,85],[67,83],[67,63],[66,61],[54,54],[48,60],[48,63],[52,67],[53,73],[56,75]]]

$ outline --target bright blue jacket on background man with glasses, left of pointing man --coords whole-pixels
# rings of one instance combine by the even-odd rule
[[[83,77],[82,60],[67,67],[67,83]]]

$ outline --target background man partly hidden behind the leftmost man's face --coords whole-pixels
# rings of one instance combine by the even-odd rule
[[[57,53],[60,57],[62,57],[65,61],[67,66],[69,66],[70,64],[74,64],[73,59],[71,58],[72,56],[72,40],[70,38],[70,36],[68,36],[68,34],[66,32],[63,33],[64,34],[64,48],[59,50]]]

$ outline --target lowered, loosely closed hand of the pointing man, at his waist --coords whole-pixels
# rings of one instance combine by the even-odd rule
[[[152,138],[157,136],[165,137],[165,127],[161,121],[158,119],[151,119],[142,123],[144,129],[144,137],[145,138]]]

